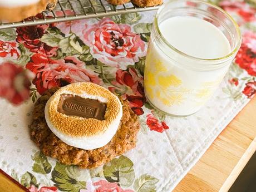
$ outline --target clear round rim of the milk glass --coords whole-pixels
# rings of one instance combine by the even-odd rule
[[[232,21],[232,24],[234,25],[235,27],[235,30],[237,31],[238,33],[238,36],[239,36],[239,40],[237,41],[235,47],[233,48],[233,51],[228,53],[227,55],[223,56],[223,57],[218,57],[218,58],[199,58],[199,57],[194,57],[194,56],[191,56],[191,55],[188,55],[186,53],[184,53],[183,51],[180,51],[178,50],[177,48],[175,48],[173,45],[171,45],[167,40],[166,38],[163,36],[163,34],[161,33],[160,29],[159,29],[159,23],[158,23],[158,19],[159,19],[159,16],[160,16],[160,13],[161,11],[165,8],[165,6],[167,6],[168,4],[170,3],[173,3],[173,2],[186,2],[186,1],[189,1],[189,2],[195,2],[195,3],[202,3],[202,4],[206,4],[208,6],[211,6],[211,7],[214,7],[216,9],[218,9],[221,13],[223,13],[225,16],[227,16],[230,21]],[[188,6],[189,7],[189,6]],[[230,16],[229,13],[227,13],[226,11],[224,11],[223,9],[221,9],[220,7],[216,6],[215,4],[213,3],[209,3],[209,2],[204,2],[204,1],[201,1],[201,0],[169,0],[169,2],[167,3],[164,3],[163,6],[161,6],[157,13],[156,13],[156,16],[155,16],[155,19],[154,19],[154,23],[155,23],[155,27],[156,27],[156,31],[157,33],[159,33],[160,35],[160,38],[161,40],[169,47],[171,48],[172,50],[174,50],[175,52],[179,53],[180,55],[182,56],[185,56],[185,57],[189,57],[193,60],[197,60],[197,61],[221,61],[221,60],[226,60],[230,57],[232,57],[240,48],[240,45],[242,43],[242,36],[241,36],[241,32],[240,32],[240,28],[237,24],[237,22],[235,22],[235,20],[232,18],[232,16]]]

